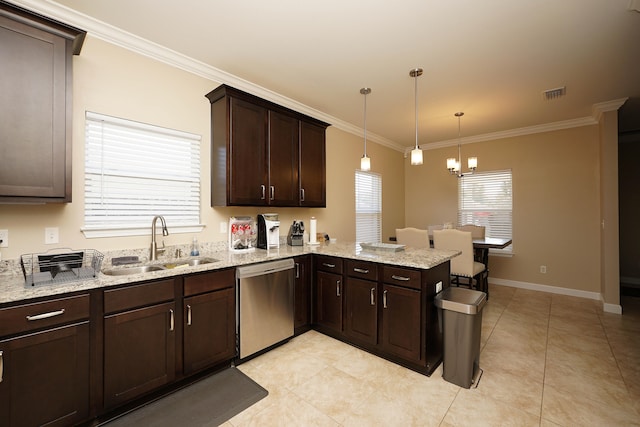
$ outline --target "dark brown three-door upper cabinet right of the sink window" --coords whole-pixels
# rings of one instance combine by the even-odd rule
[[[212,206],[326,206],[327,123],[227,85],[206,97]]]

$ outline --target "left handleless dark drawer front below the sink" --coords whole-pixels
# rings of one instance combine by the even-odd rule
[[[175,297],[173,279],[143,283],[104,291],[105,314],[171,301]]]

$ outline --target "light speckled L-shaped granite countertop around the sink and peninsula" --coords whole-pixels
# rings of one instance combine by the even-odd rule
[[[104,271],[112,268],[112,257],[130,255],[133,252],[136,251],[122,251],[119,253],[113,253],[111,254],[111,256],[106,256],[102,264],[102,270]],[[172,253],[171,251],[168,252]],[[200,256],[198,258],[214,258],[217,260],[216,262],[201,264],[192,267],[157,270],[146,273],[120,276],[110,276],[101,273],[96,278],[91,278],[88,280],[76,280],[73,282],[60,284],[36,284],[35,286],[25,284],[24,276],[22,275],[22,271],[19,268],[19,263],[16,262],[13,268],[5,267],[4,271],[0,271],[0,304],[26,301],[34,298],[61,295],[70,292],[78,292],[90,289],[107,288],[110,286],[121,285],[125,283],[142,282],[196,272],[215,271],[228,267],[237,267],[241,265],[255,264],[276,259],[291,258],[294,256],[310,253],[371,261],[402,267],[413,267],[419,269],[429,269],[435,267],[459,254],[459,252],[457,251],[416,248],[406,248],[404,251],[399,252],[378,250],[369,251],[362,250],[359,244],[353,242],[327,242],[315,246],[304,245],[293,247],[286,244],[281,244],[281,246],[277,249],[255,249],[252,252],[244,253],[234,253],[224,247],[221,247],[221,245],[209,245],[201,248]],[[140,264],[166,264],[175,261],[184,261],[189,258],[190,257],[182,257],[176,259],[170,257],[161,257],[161,259],[159,259],[158,261],[145,262],[145,259],[141,257],[142,262]]]

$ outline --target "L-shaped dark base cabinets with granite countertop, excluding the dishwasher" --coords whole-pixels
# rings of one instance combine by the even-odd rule
[[[103,271],[139,267],[111,266],[112,257],[132,252],[106,254]],[[86,422],[230,366],[237,359],[235,268],[284,258],[307,266],[295,281],[296,293],[308,295],[296,296],[296,311],[305,313],[296,313],[303,323],[296,333],[313,328],[430,375],[442,360],[433,299],[449,286],[456,255],[363,251],[355,243],[232,253],[205,244],[200,258],[208,263],[36,286],[25,285],[14,261],[0,273],[0,419]],[[38,369],[28,360],[38,360]],[[30,411],[34,396],[24,390],[38,390],[46,408]]]

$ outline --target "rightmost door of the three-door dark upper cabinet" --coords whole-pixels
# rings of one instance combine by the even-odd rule
[[[300,206],[326,207],[325,128],[300,122]]]

